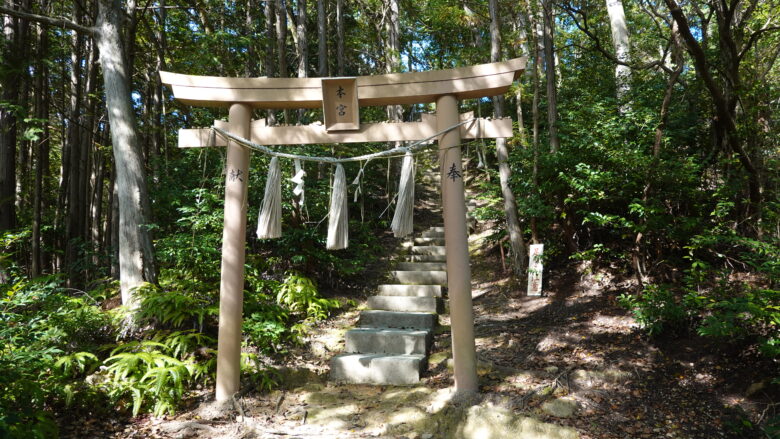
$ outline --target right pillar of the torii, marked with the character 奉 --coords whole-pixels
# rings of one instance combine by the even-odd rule
[[[444,95],[436,99],[436,121],[439,131],[458,124],[458,100],[455,96]],[[479,384],[474,345],[474,310],[471,303],[471,264],[466,229],[460,130],[450,130],[439,137],[439,165],[441,166],[455,393],[465,395],[478,392]]]

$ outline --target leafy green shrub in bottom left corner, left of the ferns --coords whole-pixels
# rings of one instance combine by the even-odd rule
[[[80,351],[96,349],[113,331],[91,299],[71,293],[82,294],[58,276],[0,286],[0,437],[56,437],[50,409],[85,390],[74,377],[96,357]],[[83,404],[94,396],[81,394]]]

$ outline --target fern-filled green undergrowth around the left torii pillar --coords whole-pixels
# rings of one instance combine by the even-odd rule
[[[17,238],[4,235],[0,250]],[[195,242],[189,244],[199,245]],[[356,276],[372,260],[367,254],[374,241],[368,242],[351,251],[362,256],[359,263],[341,264],[348,255],[331,257],[334,271],[324,280],[295,269],[305,268],[308,258],[318,257],[321,250],[302,252],[284,263],[248,255],[241,366],[256,390],[279,384],[271,357],[284,356],[290,346],[302,343],[316,322],[341,306],[323,296],[318,284]],[[80,290],[68,288],[63,275],[29,279],[13,264],[5,266],[7,278],[0,284],[0,437],[55,438],[65,413],[68,419],[103,412],[169,415],[193,391],[213,385],[218,270],[215,275],[178,258],[206,255],[215,265],[218,255],[205,250],[162,253],[170,259],[159,285],[135,290],[139,306],[133,313],[115,305],[107,309],[118,300],[114,281]],[[129,321],[134,322],[132,331]]]

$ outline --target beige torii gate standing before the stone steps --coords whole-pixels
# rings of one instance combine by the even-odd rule
[[[260,145],[416,141],[470,119],[458,114],[458,100],[505,93],[525,69],[525,58],[449,70],[350,78],[222,78],[160,72],[163,84],[183,103],[228,107],[217,127]],[[421,122],[360,124],[359,107],[436,103],[436,115]],[[265,126],[253,109],[323,108],[324,125]],[[462,116],[466,116],[465,118]],[[455,391],[478,390],[471,302],[471,267],[466,229],[461,139],[505,138],[511,119],[475,119],[439,136],[447,287],[450,299]],[[246,199],[249,150],[215,141],[209,129],[179,131],[179,147],[226,146],[225,219],[219,298],[217,401],[239,390],[241,321],[246,257]]]

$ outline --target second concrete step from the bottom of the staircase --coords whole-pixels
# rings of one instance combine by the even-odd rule
[[[427,355],[432,342],[431,331],[355,328],[347,331],[344,352],[350,354]]]

